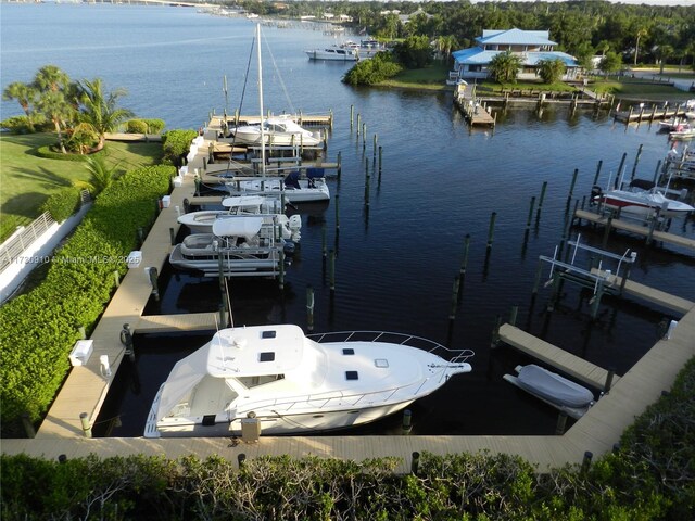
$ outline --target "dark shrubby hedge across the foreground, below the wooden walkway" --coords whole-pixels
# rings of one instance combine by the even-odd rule
[[[227,458],[94,455],[65,462],[0,459],[3,520],[533,520],[695,519],[695,359],[668,396],[641,415],[621,448],[589,468],[540,473],[507,455],[395,458]],[[37,494],[36,491],[42,493]]]

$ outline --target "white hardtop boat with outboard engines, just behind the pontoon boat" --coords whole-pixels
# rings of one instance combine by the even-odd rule
[[[190,212],[177,220],[193,233],[212,233],[213,224],[217,219],[235,215],[256,215],[263,216],[266,224],[279,226],[285,240],[296,243],[302,237],[302,217],[296,214],[290,217],[285,215],[280,209],[280,198],[277,195],[237,195],[223,199],[222,205],[227,209]]]

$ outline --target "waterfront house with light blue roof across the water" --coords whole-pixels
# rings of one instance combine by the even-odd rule
[[[521,56],[519,79],[535,79],[538,64],[542,60],[561,60],[567,67],[563,79],[573,79],[580,68],[577,60],[565,52],[555,51],[557,42],[549,37],[549,30],[484,29],[482,36],[476,38],[476,47],[452,52],[454,71],[450,79],[486,78],[492,59],[506,51]]]

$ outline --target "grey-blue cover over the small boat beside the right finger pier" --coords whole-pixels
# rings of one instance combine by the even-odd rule
[[[586,407],[594,399],[586,387],[533,364],[521,368],[517,381],[527,391],[567,407]]]

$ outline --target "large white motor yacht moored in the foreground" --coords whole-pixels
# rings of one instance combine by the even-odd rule
[[[263,434],[358,425],[470,372],[472,355],[401,333],[305,336],[293,325],[222,329],[174,366],[144,436],[238,435],[248,419]]]

